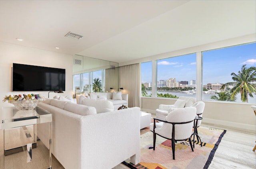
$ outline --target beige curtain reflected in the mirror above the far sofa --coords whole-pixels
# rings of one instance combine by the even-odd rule
[[[118,91],[119,88],[119,67],[105,69],[105,85],[104,85],[104,91],[113,92],[114,88],[115,91]]]

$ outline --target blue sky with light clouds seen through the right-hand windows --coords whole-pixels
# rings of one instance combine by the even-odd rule
[[[242,65],[256,67],[256,43],[203,52],[203,85],[231,82],[230,74],[238,73]],[[196,54],[157,61],[157,80],[196,80]],[[152,80],[152,63],[142,63],[142,83]]]

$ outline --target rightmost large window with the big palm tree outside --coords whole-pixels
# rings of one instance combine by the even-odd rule
[[[256,43],[204,51],[202,52],[202,57],[202,100],[255,103],[256,77],[254,75],[254,81],[252,81],[251,79],[253,78],[250,79],[246,75],[248,72],[246,70],[249,67],[256,69]],[[243,67],[243,65],[246,66]],[[242,69],[245,71],[242,71]],[[234,81],[234,78],[238,81]],[[241,86],[243,84],[252,84],[254,89],[250,88],[253,96],[251,97],[246,94],[246,88],[243,88],[242,95],[244,94],[243,96],[247,97],[247,99],[242,99],[242,101]],[[236,91],[234,91],[235,89]],[[232,95],[235,97],[232,97]]]

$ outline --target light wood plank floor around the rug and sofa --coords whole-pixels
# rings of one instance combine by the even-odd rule
[[[252,151],[256,134],[238,132],[224,126],[211,126],[202,124],[203,126],[222,128],[227,130],[222,138],[220,145],[214,155],[212,163],[208,169],[255,169],[256,168],[256,152]],[[8,155],[4,157],[3,150],[3,130],[0,130],[0,169],[45,169],[48,167],[48,149],[37,141],[37,148],[33,149],[32,161],[33,163],[22,163],[26,161],[24,152]],[[9,139],[15,139],[8,136]],[[20,138],[18,137],[18,140]],[[18,140],[12,141],[17,143]],[[8,145],[9,146],[9,145]],[[3,159],[5,167],[3,164]],[[29,164],[29,165],[28,165]],[[52,169],[64,169],[62,165],[52,155]],[[128,169],[123,164],[119,164],[113,169]]]

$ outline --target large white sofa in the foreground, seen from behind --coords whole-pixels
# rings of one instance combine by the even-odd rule
[[[38,106],[52,113],[52,154],[65,169],[111,169],[140,162],[140,108],[96,114],[96,108],[57,99]],[[49,147],[49,125],[37,126]]]

